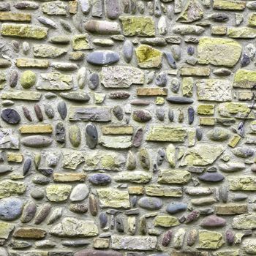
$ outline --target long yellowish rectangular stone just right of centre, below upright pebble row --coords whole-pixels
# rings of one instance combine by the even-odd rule
[[[187,129],[174,126],[151,126],[146,140],[148,141],[168,141],[168,142],[184,142],[187,137]]]

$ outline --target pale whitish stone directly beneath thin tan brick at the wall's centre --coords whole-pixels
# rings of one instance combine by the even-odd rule
[[[101,136],[100,144],[106,148],[129,148],[132,146],[131,136]]]

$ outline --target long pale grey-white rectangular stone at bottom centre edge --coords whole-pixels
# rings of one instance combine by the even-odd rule
[[[111,237],[113,249],[147,251],[157,246],[156,236],[118,236]]]

